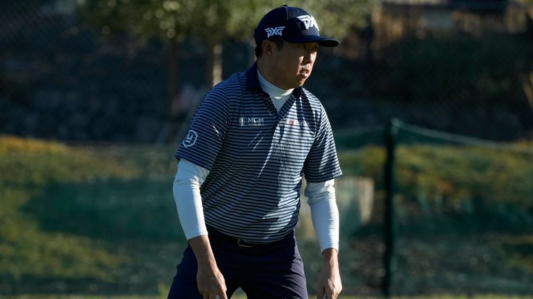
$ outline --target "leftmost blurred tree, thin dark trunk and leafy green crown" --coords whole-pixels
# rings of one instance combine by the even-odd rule
[[[140,42],[158,38],[167,44],[167,142],[176,135],[174,103],[178,99],[179,44],[191,35],[200,1],[97,0],[78,1],[78,15],[103,35],[126,32]]]

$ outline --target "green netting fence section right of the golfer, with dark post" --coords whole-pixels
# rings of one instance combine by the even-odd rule
[[[398,119],[339,137],[341,148],[359,148],[343,154],[349,175],[375,182],[371,219],[344,232],[354,255],[378,244],[379,257],[363,267],[380,271],[362,275],[353,266],[360,284],[385,296],[533,293],[531,142],[491,142]]]

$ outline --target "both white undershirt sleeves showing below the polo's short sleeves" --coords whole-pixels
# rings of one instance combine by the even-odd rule
[[[209,171],[185,159],[178,163],[173,193],[181,227],[187,240],[208,234],[203,216],[200,186]],[[321,252],[326,248],[339,250],[339,211],[335,201],[334,180],[308,182],[305,188],[307,203]]]

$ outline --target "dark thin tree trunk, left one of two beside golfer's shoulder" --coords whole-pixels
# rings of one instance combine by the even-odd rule
[[[167,144],[176,138],[176,121],[178,119],[179,102],[178,94],[178,41],[176,38],[169,40],[169,74],[167,81]]]

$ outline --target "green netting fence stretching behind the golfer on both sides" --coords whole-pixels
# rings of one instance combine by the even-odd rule
[[[533,293],[531,142],[398,120],[335,135],[346,296]],[[176,146],[0,136],[0,294],[164,297],[186,244],[171,194]],[[314,293],[322,261],[302,207]]]

